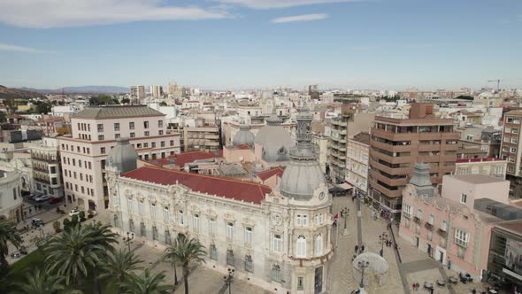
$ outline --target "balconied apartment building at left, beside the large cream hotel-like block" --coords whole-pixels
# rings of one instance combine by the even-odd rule
[[[64,197],[58,139],[43,137],[42,144],[31,146],[35,192]]]

